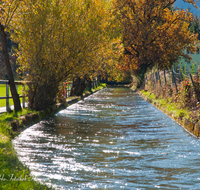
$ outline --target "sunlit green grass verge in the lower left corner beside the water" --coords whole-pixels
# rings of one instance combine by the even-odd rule
[[[51,189],[32,179],[28,168],[18,160],[12,139],[17,135],[10,126],[10,121],[22,115],[35,113],[24,109],[18,113],[0,115],[0,189],[1,190],[44,190]]]

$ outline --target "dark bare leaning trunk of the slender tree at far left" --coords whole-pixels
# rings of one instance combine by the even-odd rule
[[[9,79],[10,91],[11,91],[13,102],[14,102],[14,109],[15,111],[20,111],[22,110],[22,108],[20,104],[19,94],[17,93],[16,87],[15,87],[13,72],[11,69],[9,56],[8,56],[7,35],[5,33],[5,28],[1,23],[0,23],[0,36],[1,36],[1,43],[2,43],[2,54],[4,57],[6,71],[7,71],[7,75]]]

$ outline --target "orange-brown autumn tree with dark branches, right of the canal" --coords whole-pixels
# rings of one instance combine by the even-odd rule
[[[131,70],[144,79],[148,68],[170,68],[184,57],[186,46],[195,44],[197,36],[188,31],[192,14],[174,10],[176,0],[116,0],[116,15],[123,26],[124,52],[119,68]],[[194,1],[190,1],[195,5]]]

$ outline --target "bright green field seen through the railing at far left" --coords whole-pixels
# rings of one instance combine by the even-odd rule
[[[27,86],[25,87],[27,89]],[[19,95],[22,95],[23,91],[23,86],[18,85],[18,93]],[[6,85],[5,84],[0,84],[0,97],[5,97],[6,96]],[[9,91],[9,96],[11,96],[11,93]],[[27,99],[27,98],[26,98]],[[20,98],[20,102],[22,103],[22,98]],[[13,105],[13,100],[12,98],[9,99],[9,106]],[[6,99],[0,99],[0,107],[6,107]]]

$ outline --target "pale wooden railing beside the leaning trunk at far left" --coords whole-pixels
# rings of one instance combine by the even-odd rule
[[[8,80],[0,80],[0,84],[6,85],[6,96],[0,97],[0,99],[6,99],[6,111],[9,111],[10,110],[9,99],[12,98],[12,96],[9,96],[9,81]],[[24,81],[15,81],[15,86],[16,86],[17,92],[18,92],[18,85],[23,86],[22,95],[20,95],[19,97],[22,98],[22,106],[23,106],[23,108],[25,108],[25,97],[26,97],[25,82]]]

